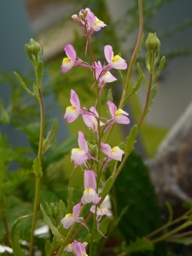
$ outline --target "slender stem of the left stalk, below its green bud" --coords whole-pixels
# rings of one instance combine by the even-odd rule
[[[39,143],[38,143],[38,158],[39,160],[42,161],[43,142],[44,142],[44,100],[43,100],[43,96],[40,88],[38,88],[38,96],[39,96],[39,107],[40,107],[40,135],[39,135]],[[30,237],[30,251],[29,251],[30,256],[33,255],[34,230],[35,230],[37,216],[38,216],[40,184],[41,184],[41,177],[35,177],[35,199],[34,199],[34,205],[33,205],[32,230],[31,230],[31,237]]]

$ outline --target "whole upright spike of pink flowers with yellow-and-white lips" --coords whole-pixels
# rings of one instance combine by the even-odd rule
[[[87,37],[86,53],[91,36],[107,25],[102,20],[99,20],[88,8],[80,10],[79,15],[73,15],[72,18],[84,29],[85,36]],[[124,70],[127,68],[126,61],[121,58],[120,55],[113,54],[113,47],[111,45],[104,46],[104,56],[107,64],[102,64],[101,61],[93,61],[91,64],[83,61],[78,57],[72,44],[67,44],[64,47],[64,51],[66,57],[64,57],[61,64],[61,73],[67,73],[73,67],[78,66],[90,68],[95,78],[93,86],[97,87],[99,96],[102,94],[102,89],[106,84],[113,83],[113,81],[117,80],[111,71],[113,71],[113,69]],[[100,116],[100,113],[97,112],[98,101],[99,99],[97,98],[95,106],[85,108],[81,105],[76,91],[71,90],[71,105],[66,108],[64,119],[66,119],[68,123],[72,123],[81,116],[84,125],[96,135],[96,145],[88,143],[84,137],[84,133],[79,131],[79,148],[72,149],[71,160],[74,166],[81,166],[82,170],[84,170],[84,192],[79,203],[73,206],[72,212],[68,212],[66,216],[61,219],[61,224],[64,229],[70,229],[73,224],[83,224],[84,227],[89,230],[82,216],[82,207],[88,205],[90,212],[96,214],[96,227],[102,234],[99,229],[100,222],[102,218],[108,218],[112,214],[107,207],[99,204],[101,198],[98,194],[98,186],[103,187],[101,173],[108,166],[109,162],[121,161],[125,154],[124,150],[119,148],[119,146],[111,147],[108,143],[103,143],[102,136],[116,123],[128,125],[130,119],[128,118],[129,113],[126,113],[121,108],[117,108],[111,101],[107,102],[109,116]],[[93,152],[93,148],[96,148],[95,153]],[[100,171],[98,172],[98,170]],[[104,235],[102,234],[102,236]],[[65,251],[72,252],[77,256],[86,256],[88,255],[86,253],[86,247],[86,241],[81,243],[74,240],[71,244],[68,244]]]

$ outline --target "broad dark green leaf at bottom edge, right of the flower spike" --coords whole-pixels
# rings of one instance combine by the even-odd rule
[[[146,237],[138,237],[136,241],[131,241],[130,245],[125,248],[124,253],[137,253],[143,251],[153,251],[154,244]],[[126,255],[126,254],[125,254]]]

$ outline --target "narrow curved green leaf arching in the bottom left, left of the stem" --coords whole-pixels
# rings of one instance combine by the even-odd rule
[[[10,231],[10,243],[11,247],[14,251],[14,255],[20,255],[20,256],[25,256],[25,253],[23,250],[20,248],[20,232],[16,230],[17,225],[20,223],[20,220],[23,218],[28,218],[32,217],[32,215],[25,215],[20,218],[17,218],[15,220],[15,224],[13,225],[11,231]]]

